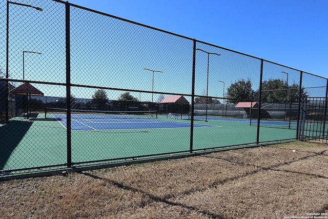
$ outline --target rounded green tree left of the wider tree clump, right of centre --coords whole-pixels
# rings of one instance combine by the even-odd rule
[[[239,99],[252,99],[253,89],[250,79],[247,81],[241,79],[241,81],[235,82],[230,85],[227,91],[227,97],[231,98],[227,100],[228,103],[236,104],[240,102]]]

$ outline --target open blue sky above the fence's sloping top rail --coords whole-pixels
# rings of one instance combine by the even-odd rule
[[[69,2],[328,77],[327,0]]]

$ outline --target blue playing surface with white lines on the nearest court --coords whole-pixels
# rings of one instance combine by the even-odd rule
[[[67,128],[66,114],[52,114],[52,116]],[[215,127],[210,125],[194,124],[194,127]],[[120,129],[166,129],[190,128],[190,123],[157,120],[156,118],[142,118],[130,116],[110,115],[72,115],[71,130],[120,130]]]

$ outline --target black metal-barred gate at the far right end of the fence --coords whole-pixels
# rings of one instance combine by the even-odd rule
[[[298,139],[327,142],[327,97],[304,96],[300,107]]]

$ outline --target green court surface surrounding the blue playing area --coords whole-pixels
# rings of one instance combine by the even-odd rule
[[[83,162],[181,151],[187,153],[190,150],[190,120],[167,116],[158,116],[157,120],[163,124],[183,123],[187,127],[71,131],[72,162],[83,166]],[[209,120],[194,121],[194,125],[194,150],[256,142],[257,127],[249,123]],[[44,114],[34,114],[29,120],[14,117],[9,124],[0,124],[0,136],[4,142],[1,170],[67,163],[67,130],[54,117],[45,118]],[[259,141],[295,137],[296,130],[261,127]]]

